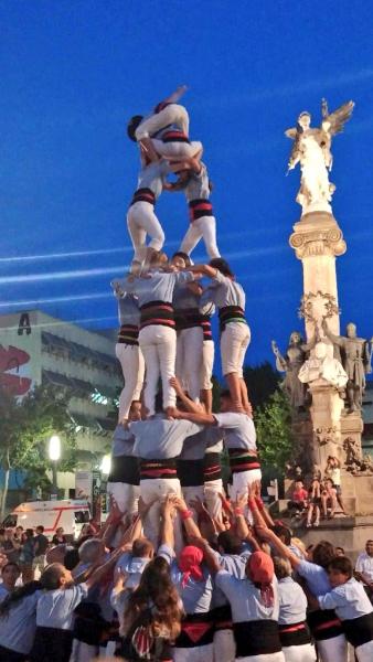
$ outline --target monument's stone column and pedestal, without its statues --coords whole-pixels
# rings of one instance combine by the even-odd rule
[[[327,319],[330,331],[334,335],[340,334],[335,257],[343,255],[347,249],[342,232],[332,213],[312,211],[302,215],[294,225],[289,243],[302,263],[303,297],[300,310],[305,318],[307,341],[313,338],[317,328],[320,340],[327,345],[328,355],[333,357],[333,345],[324,337],[321,323]],[[352,437],[361,450],[363,423],[360,413],[344,414],[342,394],[326,380],[316,378],[310,382],[309,392],[312,399],[311,425],[295,421],[292,428],[302,457],[307,453],[308,465],[317,465],[323,474],[328,456],[338,457],[341,465],[344,465],[343,441],[347,437]],[[349,512],[352,510],[351,514],[367,512],[366,499],[361,492],[363,482],[342,470],[342,494],[349,503]],[[371,488],[365,482],[363,489],[370,491]],[[373,492],[370,512],[372,510]]]

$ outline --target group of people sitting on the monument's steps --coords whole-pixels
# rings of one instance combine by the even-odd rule
[[[333,519],[339,514],[345,515],[341,491],[341,462],[338,458],[329,456],[327,459],[324,478],[318,469],[308,489],[300,476],[296,477],[291,500],[288,510],[291,517],[303,519],[306,526],[319,526],[321,519]]]

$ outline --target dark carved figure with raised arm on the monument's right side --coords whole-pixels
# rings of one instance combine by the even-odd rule
[[[364,338],[356,337],[356,327],[352,322],[345,328],[345,337],[334,335],[326,319],[322,320],[321,325],[327,338],[341,350],[342,365],[349,380],[345,389],[349,413],[360,412],[365,391],[365,374],[372,372],[369,342]]]

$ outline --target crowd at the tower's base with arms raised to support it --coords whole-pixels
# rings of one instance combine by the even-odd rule
[[[169,493],[157,547],[143,536],[149,504],[125,526],[113,502],[100,531],[47,549],[39,580],[19,585],[7,562],[0,661],[348,662],[350,643],[371,662],[373,541],[353,572],[342,548],[305,549],[274,522],[259,482],[221,502],[224,517],[212,517]]]

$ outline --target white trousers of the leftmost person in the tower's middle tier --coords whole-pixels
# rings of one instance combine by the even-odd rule
[[[115,345],[116,356],[121,365],[125,386],[119,396],[119,423],[128,418],[128,413],[134,399],[140,399],[145,361],[142,352],[138,345],[129,345],[124,342],[117,342]]]

